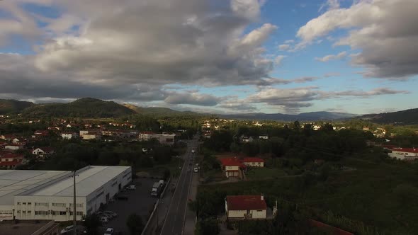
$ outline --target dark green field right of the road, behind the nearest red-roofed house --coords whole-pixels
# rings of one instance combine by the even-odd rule
[[[363,222],[383,231],[380,234],[418,234],[418,171],[414,166],[357,159],[340,163],[356,171],[332,173],[324,182],[312,180],[313,176],[302,176],[201,185],[199,191],[220,191],[227,195],[264,193],[266,197],[281,197]],[[273,172],[276,170],[277,173]],[[249,177],[281,173],[283,171],[274,168],[265,173],[256,170]]]

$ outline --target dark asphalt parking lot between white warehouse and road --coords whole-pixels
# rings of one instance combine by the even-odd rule
[[[104,210],[110,210],[118,214],[118,217],[111,219],[107,224],[103,224],[103,229],[113,228],[115,232],[130,234],[126,227],[126,219],[132,213],[139,214],[142,217],[144,225],[147,223],[150,212],[154,209],[157,197],[151,197],[152,184],[157,179],[140,178],[135,179],[132,185],[136,185],[136,190],[126,190],[119,193],[119,196],[126,196],[128,200],[115,200],[106,205]]]

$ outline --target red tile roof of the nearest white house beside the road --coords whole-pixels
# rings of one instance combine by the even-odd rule
[[[228,210],[266,210],[265,200],[261,195],[227,196]]]

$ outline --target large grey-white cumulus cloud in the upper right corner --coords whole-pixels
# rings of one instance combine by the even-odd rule
[[[364,76],[405,79],[418,74],[418,1],[354,1],[349,8],[331,8],[298,30],[301,45],[337,29],[349,30],[334,45],[361,50],[351,62],[365,67]]]

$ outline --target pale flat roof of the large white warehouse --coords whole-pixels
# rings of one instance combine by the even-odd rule
[[[77,171],[77,197],[85,197],[130,166],[86,166]],[[0,170],[0,205],[13,205],[16,195],[73,196],[71,171]]]

